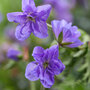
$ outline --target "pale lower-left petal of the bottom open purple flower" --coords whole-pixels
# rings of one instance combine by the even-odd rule
[[[31,81],[36,81],[39,79],[39,66],[35,61],[27,65],[25,77]]]

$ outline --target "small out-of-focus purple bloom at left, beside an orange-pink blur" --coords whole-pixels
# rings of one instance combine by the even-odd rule
[[[15,61],[19,60],[19,56],[21,55],[21,52],[18,50],[15,50],[13,48],[8,49],[7,57],[9,59],[13,59]]]

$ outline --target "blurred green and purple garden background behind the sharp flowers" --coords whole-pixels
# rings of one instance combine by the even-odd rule
[[[78,26],[84,45],[78,48],[60,48],[60,59],[66,65],[62,74],[55,78],[55,84],[45,90],[90,90],[90,0],[34,0],[36,5],[50,3],[53,7],[47,23],[53,19],[65,19]],[[54,1],[54,0],[52,0]],[[68,1],[68,2],[66,2]],[[39,39],[31,35],[20,42],[15,38],[17,24],[7,20],[7,13],[21,10],[22,0],[0,0],[0,90],[42,90],[40,81],[30,82],[25,78],[26,65],[33,61],[35,46],[49,48],[55,44],[48,28],[49,37]],[[7,58],[9,48],[18,49],[22,56],[18,61]]]

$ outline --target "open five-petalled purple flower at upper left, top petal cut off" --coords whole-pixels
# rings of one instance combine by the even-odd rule
[[[51,6],[47,4],[36,7],[34,0],[22,0],[22,11],[7,14],[10,22],[19,23],[16,28],[16,38],[23,41],[31,33],[36,37],[46,38],[48,36],[46,20]]]

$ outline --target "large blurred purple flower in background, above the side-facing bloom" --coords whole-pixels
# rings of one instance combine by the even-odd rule
[[[68,22],[72,21],[70,10],[75,6],[76,0],[44,0],[54,8],[56,19],[65,19]]]

